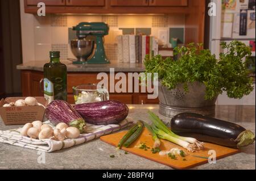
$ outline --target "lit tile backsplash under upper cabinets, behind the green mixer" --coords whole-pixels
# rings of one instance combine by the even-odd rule
[[[117,60],[117,35],[136,33],[159,38],[159,31],[166,30],[167,41],[175,36],[179,36],[180,42],[184,41],[184,15],[34,15],[35,60],[48,60],[50,50],[60,50],[62,60],[76,58],[69,40],[76,38],[72,27],[80,22],[109,24],[104,45],[110,61]]]

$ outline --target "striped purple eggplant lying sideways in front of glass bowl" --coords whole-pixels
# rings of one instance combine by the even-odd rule
[[[76,104],[74,107],[86,123],[97,125],[118,124],[127,117],[129,112],[126,104],[118,100]]]

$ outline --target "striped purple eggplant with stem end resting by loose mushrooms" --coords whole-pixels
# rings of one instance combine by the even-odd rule
[[[78,128],[80,133],[83,133],[86,129],[85,121],[81,115],[64,100],[53,100],[49,103],[46,107],[45,116],[55,125],[66,123],[70,127]]]

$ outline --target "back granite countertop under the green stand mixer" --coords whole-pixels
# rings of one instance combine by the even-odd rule
[[[44,64],[49,61],[30,61],[24,64],[17,65],[16,68],[19,70],[36,70],[43,71]],[[71,61],[61,60],[61,62],[67,65],[68,72],[108,72],[110,68],[114,68],[114,71],[122,72],[142,72],[144,71],[143,64],[129,64],[129,63],[119,63],[116,61],[111,62],[111,64],[84,64],[75,65]]]

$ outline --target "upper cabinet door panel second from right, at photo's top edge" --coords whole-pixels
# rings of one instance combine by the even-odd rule
[[[148,6],[148,0],[110,0],[110,6]]]

